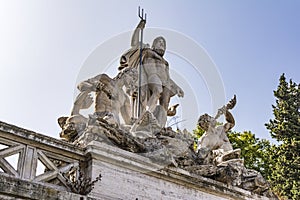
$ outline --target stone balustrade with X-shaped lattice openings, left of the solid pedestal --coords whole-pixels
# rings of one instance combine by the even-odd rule
[[[6,199],[4,194],[57,199],[70,191],[66,174],[81,161],[85,155],[80,147],[0,122],[0,199]]]

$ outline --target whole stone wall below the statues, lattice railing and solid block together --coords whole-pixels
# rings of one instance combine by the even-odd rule
[[[80,148],[0,122],[0,144],[0,199],[267,199],[97,141]],[[17,167],[6,159],[14,154]],[[88,195],[71,192],[65,176],[80,163],[92,180],[102,175]]]

